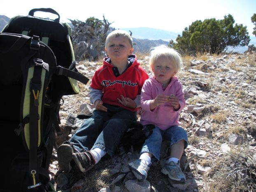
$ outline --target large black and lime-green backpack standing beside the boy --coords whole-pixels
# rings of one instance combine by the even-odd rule
[[[36,11],[58,18],[34,17]],[[76,69],[71,29],[59,19],[53,9],[32,9],[0,33],[0,191],[49,191],[60,101],[89,80]]]

